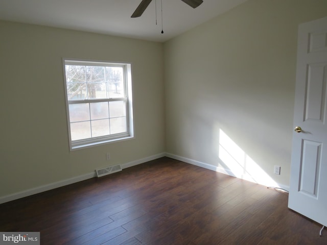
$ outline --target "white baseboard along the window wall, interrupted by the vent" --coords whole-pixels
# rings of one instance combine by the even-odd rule
[[[121,166],[124,169],[124,168],[127,168],[127,167],[131,167],[131,166],[135,166],[135,165],[144,163],[144,162],[148,162],[148,161],[160,158],[160,157],[164,157],[165,155],[166,155],[165,153],[160,153],[160,154],[157,154],[157,155],[153,155],[153,156],[138,159],[138,160],[135,160],[135,161],[127,162],[127,163],[121,164]],[[85,175],[81,175],[81,176],[73,177],[73,178],[70,178],[70,179],[57,181],[57,182],[54,182],[54,183],[42,185],[42,186],[35,187],[35,188],[32,188],[32,189],[28,189],[28,190],[19,191],[19,192],[13,193],[13,194],[5,195],[3,197],[0,197],[0,204],[7,203],[7,202],[10,202],[10,201],[13,201],[13,200],[16,200],[16,199],[20,199],[20,198],[25,198],[25,197],[28,197],[29,195],[34,195],[34,194],[37,194],[37,193],[40,193],[40,192],[43,192],[43,191],[52,190],[52,189],[55,189],[55,188],[58,188],[58,187],[73,184],[73,183],[80,182],[80,181],[87,180],[87,179],[91,179],[91,178],[94,178],[94,177],[96,177],[95,171],[92,172],[92,173],[85,174]]]

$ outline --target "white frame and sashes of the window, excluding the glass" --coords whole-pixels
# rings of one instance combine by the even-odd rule
[[[65,90],[65,101],[66,101],[66,114],[67,114],[67,126],[68,126],[68,138],[69,138],[69,150],[74,151],[90,146],[99,144],[105,144],[110,142],[116,142],[121,140],[127,140],[134,137],[133,127],[133,104],[132,104],[132,76],[131,76],[131,63],[121,62],[107,62],[107,61],[90,61],[80,59],[68,59],[63,58],[63,76],[64,76],[64,90]],[[68,100],[67,94],[67,80],[66,80],[66,65],[93,65],[93,66],[119,66],[123,67],[124,70],[124,86],[125,96],[123,98],[109,98],[109,99],[83,99],[83,100]],[[94,103],[94,102],[111,102],[111,101],[125,101],[126,103],[126,123],[127,132],[112,134],[100,137],[92,137],[81,140],[72,140],[71,136],[71,122],[69,120],[69,104],[83,104],[83,103]]]

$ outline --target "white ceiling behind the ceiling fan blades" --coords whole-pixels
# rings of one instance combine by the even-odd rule
[[[245,1],[203,0],[193,9],[180,0],[152,0],[131,18],[141,0],[0,0],[0,19],[164,42]]]

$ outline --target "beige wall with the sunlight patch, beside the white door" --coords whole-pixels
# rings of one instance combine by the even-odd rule
[[[166,42],[166,152],[287,187],[297,27],[323,16],[325,0],[250,0]]]

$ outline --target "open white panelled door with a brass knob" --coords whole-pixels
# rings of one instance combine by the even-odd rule
[[[327,226],[327,17],[300,24],[288,207]]]

